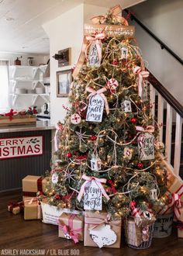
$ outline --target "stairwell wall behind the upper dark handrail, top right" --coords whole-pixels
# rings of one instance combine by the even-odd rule
[[[157,35],[179,57],[183,58],[183,1],[182,0],[148,0],[133,7],[137,18]],[[143,29],[136,26],[136,40],[148,62],[148,68],[162,85],[183,105],[183,72],[182,66],[167,53],[161,50],[156,41]]]

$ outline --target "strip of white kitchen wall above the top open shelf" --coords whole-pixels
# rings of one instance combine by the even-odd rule
[[[33,65],[39,66],[40,64],[47,64],[47,61],[50,56],[38,55],[38,54],[19,54],[19,53],[10,53],[10,52],[1,52],[0,51],[0,60],[5,59],[9,60],[10,65],[14,64],[16,57],[21,57],[19,59],[22,65],[27,65],[27,57],[33,57]]]

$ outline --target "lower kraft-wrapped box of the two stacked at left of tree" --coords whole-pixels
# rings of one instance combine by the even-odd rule
[[[24,197],[24,220],[40,220],[41,206],[36,198]]]

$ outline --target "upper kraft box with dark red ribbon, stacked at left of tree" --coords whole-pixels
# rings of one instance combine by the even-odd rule
[[[27,175],[22,179],[22,194],[23,196],[36,196],[37,192],[45,192],[46,185],[46,178]]]

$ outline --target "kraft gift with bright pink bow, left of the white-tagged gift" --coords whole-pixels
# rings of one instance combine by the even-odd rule
[[[84,216],[72,213],[62,213],[58,219],[58,237],[67,238],[67,234],[74,234],[77,240],[84,238]],[[69,238],[68,238],[69,239]],[[78,241],[77,241],[78,242]]]

